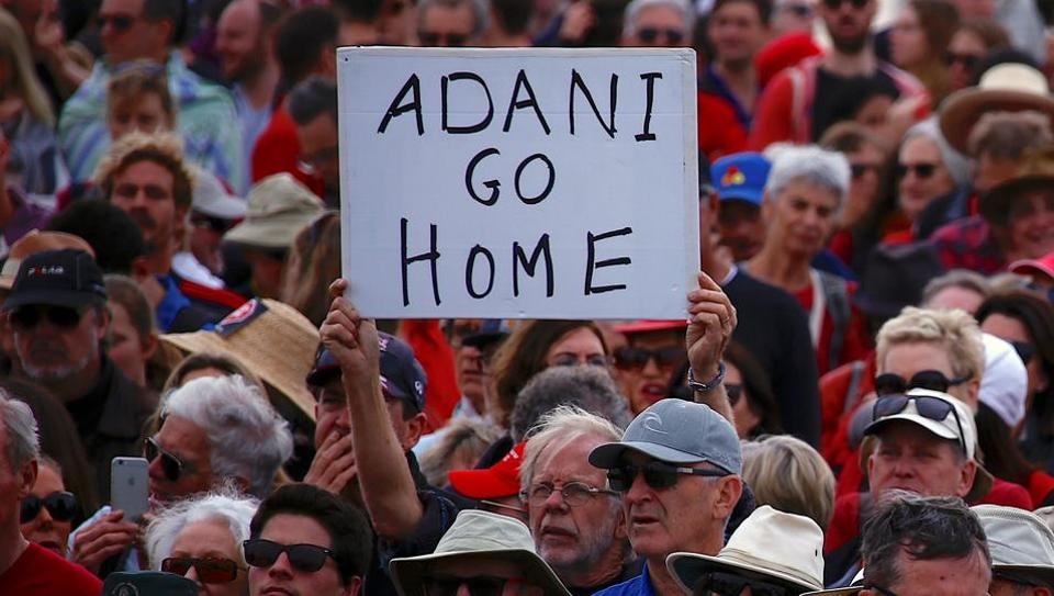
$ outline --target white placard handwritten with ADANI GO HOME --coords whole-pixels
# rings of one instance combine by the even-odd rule
[[[691,49],[341,48],[344,275],[380,318],[683,318]]]

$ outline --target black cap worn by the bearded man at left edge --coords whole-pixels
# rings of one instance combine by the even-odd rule
[[[105,303],[106,286],[96,260],[83,250],[63,248],[26,257],[3,307],[46,304],[76,308]]]

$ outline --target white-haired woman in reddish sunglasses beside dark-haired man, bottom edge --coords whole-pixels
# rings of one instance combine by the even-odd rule
[[[193,580],[199,594],[246,596],[242,542],[258,505],[255,498],[215,493],[161,511],[146,530],[150,565]]]

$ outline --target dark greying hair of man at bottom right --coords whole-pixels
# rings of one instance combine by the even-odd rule
[[[991,555],[977,515],[957,497],[922,497],[890,491],[864,524],[861,552],[867,585],[895,586],[900,581],[900,552],[916,561]]]

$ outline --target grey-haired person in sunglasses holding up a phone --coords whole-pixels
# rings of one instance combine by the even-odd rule
[[[195,379],[161,407],[160,430],[147,437],[152,508],[234,483],[262,498],[293,452],[289,425],[260,389],[239,376]],[[104,507],[77,529],[71,559],[105,574],[113,565],[136,566],[130,547],[141,528],[124,513]]]

